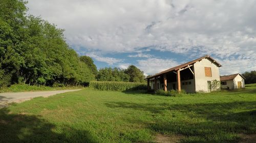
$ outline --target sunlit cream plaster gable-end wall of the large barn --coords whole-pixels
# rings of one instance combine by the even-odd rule
[[[211,75],[212,75],[211,77],[205,76],[204,67],[211,68]],[[195,71],[196,91],[208,92],[207,81],[211,81],[215,79],[220,81],[219,67],[217,67],[217,65],[215,65],[208,59],[203,59],[199,62],[196,62],[194,64],[194,71]]]

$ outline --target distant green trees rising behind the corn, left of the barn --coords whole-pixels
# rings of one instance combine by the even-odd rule
[[[133,65],[125,70],[106,67],[99,69],[96,79],[98,81],[145,82],[143,74],[143,71]]]

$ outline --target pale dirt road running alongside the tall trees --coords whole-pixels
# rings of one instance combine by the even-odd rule
[[[35,97],[48,97],[55,94],[74,92],[79,90],[60,90],[60,91],[39,91],[39,92],[18,92],[18,93],[0,93],[0,108],[5,107],[8,103],[23,102]]]

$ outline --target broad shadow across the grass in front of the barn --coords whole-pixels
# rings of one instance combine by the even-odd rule
[[[255,101],[205,104],[129,102],[105,104],[111,108],[149,111],[152,113],[153,121],[125,120],[141,123],[159,133],[185,135],[186,138],[182,142],[238,142],[238,133],[256,133]]]

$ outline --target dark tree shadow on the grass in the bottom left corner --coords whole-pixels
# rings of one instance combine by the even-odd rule
[[[54,131],[55,130],[55,131]],[[56,131],[57,130],[57,131]],[[36,116],[0,109],[0,142],[96,142],[88,131],[63,126],[59,130]]]

